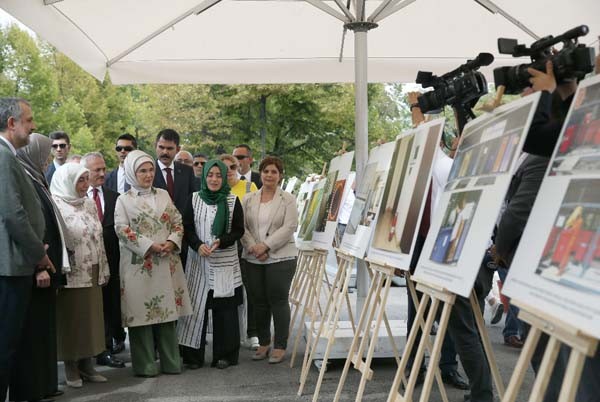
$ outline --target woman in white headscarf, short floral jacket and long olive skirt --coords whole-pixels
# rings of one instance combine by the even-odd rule
[[[92,364],[104,350],[102,289],[109,278],[96,205],[86,197],[89,172],[78,163],[59,167],[50,191],[65,221],[71,271],[56,299],[58,360],[65,362],[67,385],[81,387],[82,379],[106,382]]]

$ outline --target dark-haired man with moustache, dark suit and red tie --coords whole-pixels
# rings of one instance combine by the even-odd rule
[[[175,155],[181,150],[177,131],[166,128],[156,136],[156,173],[154,187],[169,192],[171,200],[183,216],[188,198],[200,190],[195,180],[194,169],[182,163],[174,162]],[[181,245],[181,263],[185,268],[187,259],[187,244]]]

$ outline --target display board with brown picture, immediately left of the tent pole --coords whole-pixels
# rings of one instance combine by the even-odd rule
[[[312,238],[309,239],[308,236],[304,238],[304,240],[311,240],[315,248],[328,250],[333,243],[344,189],[353,160],[354,152],[346,152],[333,158],[329,164]]]

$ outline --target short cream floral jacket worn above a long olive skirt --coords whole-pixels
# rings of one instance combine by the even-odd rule
[[[104,251],[102,224],[93,201],[84,198],[79,204],[70,204],[52,196],[66,224],[65,240],[69,244],[71,270],[67,272],[65,288],[92,287],[92,266],[98,264],[98,283],[105,285],[110,278]]]

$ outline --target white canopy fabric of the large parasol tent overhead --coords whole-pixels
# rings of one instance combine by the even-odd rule
[[[345,5],[347,0],[338,1]],[[114,60],[189,10],[213,3]],[[325,4],[343,16],[333,1],[312,3]],[[367,1],[366,16],[380,4]],[[539,36],[557,35],[580,24],[590,27],[584,43],[596,41],[600,34],[598,0],[495,0],[493,4]],[[103,79],[108,71],[116,84],[352,82],[355,78],[353,33],[346,35],[339,62],[343,22],[307,1],[0,0],[0,7],[96,78]],[[496,56],[494,64],[483,70],[490,79],[494,66],[515,63],[510,56],[497,54],[499,36],[526,44],[533,41],[474,0],[416,0],[369,32],[368,81],[412,82],[418,70],[441,74],[479,52]]]

